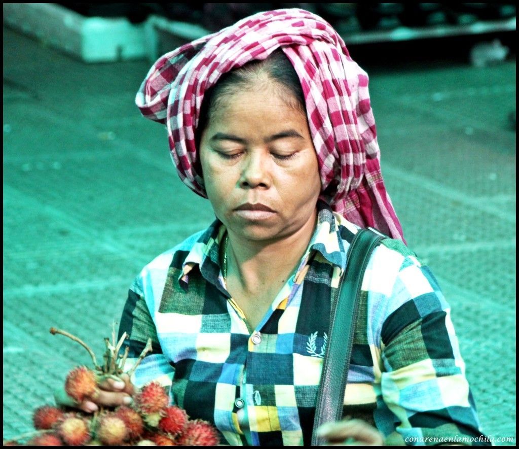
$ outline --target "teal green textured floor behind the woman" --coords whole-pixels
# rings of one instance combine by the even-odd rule
[[[515,58],[380,65],[362,51],[404,235],[452,305],[485,432],[515,441]],[[4,28],[4,438],[90,364],[49,328],[101,358],[134,276],[213,219],[134,105],[150,65],[88,65]]]

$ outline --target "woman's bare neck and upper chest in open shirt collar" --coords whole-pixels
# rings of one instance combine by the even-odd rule
[[[228,230],[227,279],[238,282],[245,292],[280,288],[297,269],[313,235],[317,209],[296,232],[271,240],[245,239]]]

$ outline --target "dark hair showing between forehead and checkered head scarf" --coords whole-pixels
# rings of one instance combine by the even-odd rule
[[[224,73],[218,82],[204,94],[198,126],[195,130],[196,148],[200,148],[203,130],[206,129],[211,113],[226,95],[234,94],[240,88],[247,88],[255,80],[267,75],[277,82],[282,98],[293,108],[306,113],[305,95],[299,77],[283,50],[274,50],[266,59],[250,61],[242,67]],[[294,101],[295,99],[295,101]]]

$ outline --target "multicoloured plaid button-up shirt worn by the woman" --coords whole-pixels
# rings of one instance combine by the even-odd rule
[[[213,422],[230,445],[308,445],[330,298],[357,231],[320,201],[296,274],[252,334],[224,286],[220,221],[158,256],[122,313],[119,335],[130,335],[131,357],[153,340],[134,384],[159,380],[172,403]],[[384,240],[365,272],[344,411],[393,444],[481,435],[449,306],[398,240]]]

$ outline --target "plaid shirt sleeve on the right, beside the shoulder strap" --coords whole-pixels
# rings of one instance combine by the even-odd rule
[[[415,257],[405,257],[385,309],[375,420],[387,443],[491,445],[481,432],[449,306]]]

